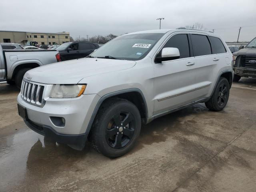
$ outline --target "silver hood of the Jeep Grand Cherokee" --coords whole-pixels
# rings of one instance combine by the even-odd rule
[[[24,78],[44,84],[77,84],[82,78],[133,67],[135,61],[82,58],[48,64],[29,70]]]

